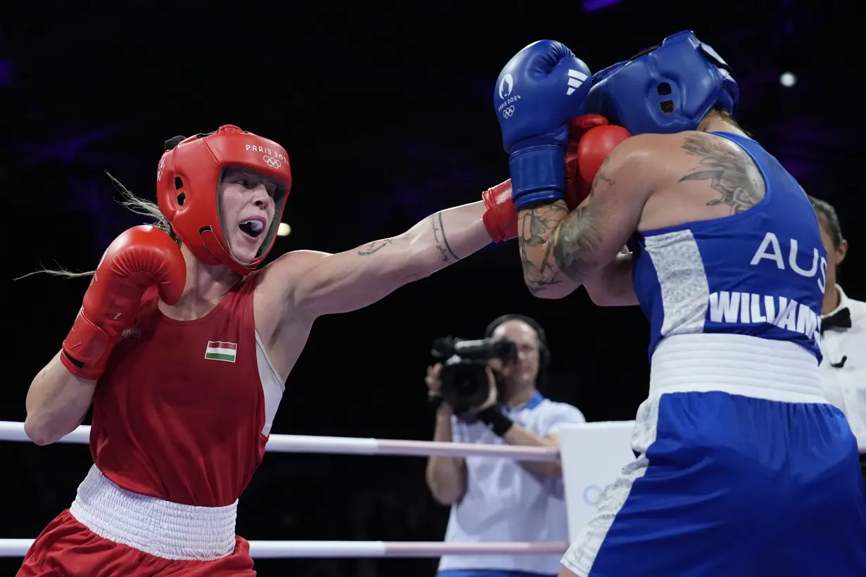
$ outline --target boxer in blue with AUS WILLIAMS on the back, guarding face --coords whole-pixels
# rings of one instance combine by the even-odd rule
[[[866,575],[856,441],[818,381],[827,260],[808,198],[734,121],[729,67],[692,32],[589,73],[540,41],[494,91],[529,289],[584,285],[650,320],[637,458],[560,576]],[[634,136],[569,211],[559,159],[585,114]]]

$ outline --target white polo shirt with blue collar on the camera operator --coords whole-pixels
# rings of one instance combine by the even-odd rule
[[[565,403],[536,393],[508,417],[539,435],[559,432],[563,423],[583,423],[584,415]],[[457,443],[504,445],[481,422],[452,417]],[[565,490],[561,477],[528,470],[511,458],[467,457],[466,494],[451,506],[445,542],[567,542]],[[511,569],[559,574],[560,555],[444,555],[439,570]]]

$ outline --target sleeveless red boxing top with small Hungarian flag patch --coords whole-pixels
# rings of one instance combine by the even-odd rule
[[[90,452],[126,490],[174,503],[234,503],[262,462],[255,272],[208,315],[162,314],[155,289],[94,392]]]

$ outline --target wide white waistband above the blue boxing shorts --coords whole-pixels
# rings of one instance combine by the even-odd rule
[[[827,402],[818,360],[787,341],[731,334],[662,339],[650,366],[650,399],[662,393],[722,391],[786,402]]]

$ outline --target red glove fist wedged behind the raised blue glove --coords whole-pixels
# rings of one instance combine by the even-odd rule
[[[565,203],[569,210],[577,208],[589,196],[592,181],[604,159],[630,136],[624,127],[609,125],[607,119],[598,114],[572,119],[565,148]]]

